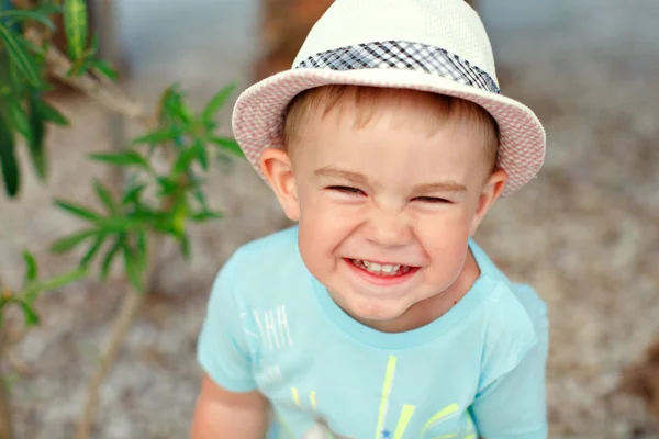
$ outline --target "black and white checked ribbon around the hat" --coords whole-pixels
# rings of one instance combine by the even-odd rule
[[[422,43],[387,41],[340,47],[310,56],[295,68],[416,70],[501,94],[499,86],[487,71],[443,48]]]

